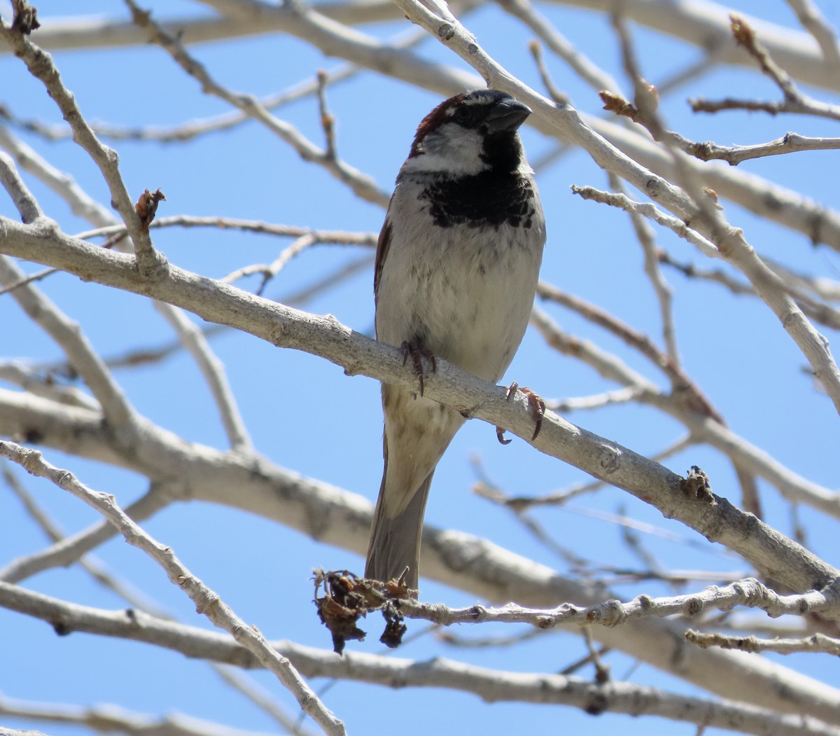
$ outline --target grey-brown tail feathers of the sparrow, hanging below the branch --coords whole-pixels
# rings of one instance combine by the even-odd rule
[[[389,517],[383,502],[387,472],[382,474],[382,486],[376,501],[373,526],[370,528],[365,577],[387,582],[391,578],[398,578],[408,568],[406,585],[417,589],[423,514],[433,475],[434,472],[428,474],[402,512]]]

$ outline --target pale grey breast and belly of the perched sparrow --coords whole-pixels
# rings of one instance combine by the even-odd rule
[[[391,202],[377,337],[394,345],[420,339],[435,355],[498,381],[537,286],[545,240],[538,197],[532,190],[516,208],[505,202],[504,216],[482,218],[477,207],[423,192],[428,187],[398,187]]]

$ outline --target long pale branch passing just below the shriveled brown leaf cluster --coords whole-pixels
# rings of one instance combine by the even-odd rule
[[[146,641],[175,649],[187,656],[200,656],[239,667],[260,666],[255,655],[221,633],[160,621],[142,612],[129,616],[123,611],[101,611],[59,601],[17,586],[8,586],[6,583],[0,583],[0,605],[30,612],[39,618],[50,617],[49,620],[57,622],[65,633],[89,631]],[[830,717],[827,723],[837,720],[837,714],[832,714],[829,702],[822,702],[819,697],[821,694],[816,691],[807,695],[803,691],[806,700],[795,705],[797,709],[808,709],[809,718],[803,722],[799,714],[780,716],[779,713],[762,711],[741,703],[710,703],[701,698],[670,696],[655,688],[630,683],[591,683],[561,675],[488,670],[440,657],[428,662],[414,662],[349,652],[339,658],[332,652],[288,641],[274,642],[272,645],[278,653],[288,657],[304,676],[309,677],[339,677],[386,686],[395,683],[401,686],[444,686],[474,692],[491,702],[554,702],[577,707],[589,707],[597,703],[598,712],[643,712],[662,718],[687,718],[689,723],[705,723],[706,718],[711,718],[709,723],[715,723],[721,728],[740,728],[747,733],[778,736],[790,733],[837,736],[840,733],[840,729],[816,720],[821,714]],[[743,694],[742,691],[738,692]],[[784,698],[789,702],[791,694],[787,693]],[[832,715],[834,718],[831,718]]]

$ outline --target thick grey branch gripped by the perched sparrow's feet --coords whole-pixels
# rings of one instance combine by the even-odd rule
[[[334,318],[299,313],[221,282],[198,278],[173,265],[167,266],[165,275],[159,274],[151,280],[134,269],[130,256],[97,249],[66,236],[53,235],[45,239],[33,231],[33,227],[0,218],[0,228],[5,228],[8,234],[6,240],[0,241],[0,251],[44,261],[77,276],[187,308],[204,319],[242,329],[277,346],[317,352],[323,358],[343,365],[349,375],[361,373],[404,386],[415,383],[413,371],[402,365],[400,350],[354,333]],[[508,401],[504,389],[489,386],[444,361],[438,362],[438,371],[427,381],[429,397],[495,426],[510,428],[522,438],[533,434],[533,420],[524,397]],[[791,551],[796,550],[792,555],[795,562],[789,560],[790,565],[785,565],[777,549],[783,539],[781,535],[777,536],[751,515],[742,518],[741,513],[723,499],[714,502],[717,513],[714,514],[715,523],[710,523],[711,497],[691,498],[681,493],[684,479],[641,455],[576,428],[556,415],[546,415],[542,432],[531,444],[593,476],[625,488],[645,502],[653,502],[666,516],[678,515],[683,523],[709,539],[735,549],[774,579],[789,581],[791,587],[802,589],[804,578],[801,573],[805,570],[809,570],[806,588],[816,588],[835,574],[798,545],[791,548]],[[840,506],[840,499],[835,495],[832,503]],[[746,527],[751,529],[749,539],[743,536]],[[768,546],[762,549],[764,544]]]

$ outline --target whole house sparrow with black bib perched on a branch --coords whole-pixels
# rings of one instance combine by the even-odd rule
[[[531,110],[496,90],[440,103],[396,177],[376,250],[376,338],[402,345],[419,392],[382,385],[385,471],[365,577],[417,588],[435,466],[465,418],[423,397],[423,358],[498,381],[522,341],[545,221],[517,129]],[[501,439],[501,430],[500,430]]]

